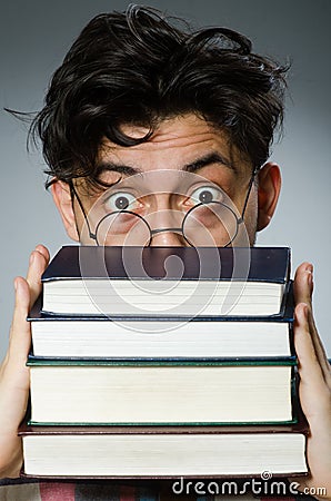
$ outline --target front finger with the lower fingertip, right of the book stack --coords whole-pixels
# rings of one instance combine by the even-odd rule
[[[299,360],[300,400],[304,414],[310,419],[319,415],[321,406],[329,402],[330,392],[310,335],[308,306],[303,303],[295,307],[294,345]]]

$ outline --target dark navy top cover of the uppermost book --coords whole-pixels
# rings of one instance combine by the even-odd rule
[[[172,257],[180,259],[172,259]],[[170,261],[169,261],[170,258]],[[172,263],[171,263],[172,262]],[[179,266],[182,265],[182,266]],[[247,276],[248,269],[248,276]],[[285,283],[289,247],[63,246],[42,281],[80,278],[248,279]]]

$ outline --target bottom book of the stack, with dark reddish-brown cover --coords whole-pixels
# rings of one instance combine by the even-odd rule
[[[27,426],[24,477],[167,479],[307,474],[305,423],[279,426]]]

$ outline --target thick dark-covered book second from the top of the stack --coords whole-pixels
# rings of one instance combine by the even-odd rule
[[[28,320],[34,356],[47,357],[265,357],[293,353],[293,294],[283,315],[113,317],[60,316],[41,312]]]

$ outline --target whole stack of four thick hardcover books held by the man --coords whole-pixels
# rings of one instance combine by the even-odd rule
[[[42,281],[23,475],[307,473],[288,248],[67,246]]]

